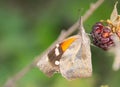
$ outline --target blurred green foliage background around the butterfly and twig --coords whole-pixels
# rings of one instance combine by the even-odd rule
[[[0,0],[0,87],[52,44],[62,29],[75,23],[92,2],[96,0]],[[115,2],[105,0],[84,22],[88,33],[95,22],[109,18]],[[120,12],[120,2],[117,7]],[[67,81],[60,74],[48,78],[35,68],[17,87],[120,87],[120,71],[112,70],[114,56],[96,47],[91,51],[91,78]]]

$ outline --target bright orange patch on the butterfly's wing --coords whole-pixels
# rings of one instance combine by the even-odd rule
[[[71,37],[71,38],[68,38],[67,40],[63,41],[60,45],[61,45],[61,48],[63,50],[63,52],[72,44],[72,42],[74,42],[77,38],[75,37]]]

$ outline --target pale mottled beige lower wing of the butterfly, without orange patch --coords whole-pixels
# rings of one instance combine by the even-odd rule
[[[83,47],[81,36],[77,37],[60,59],[60,72],[67,79],[89,77],[92,74],[91,54],[83,52],[86,48]]]

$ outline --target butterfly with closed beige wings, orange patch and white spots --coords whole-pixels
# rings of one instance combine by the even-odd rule
[[[90,40],[82,22],[80,33],[54,46],[37,63],[47,76],[59,72],[66,79],[90,77],[92,75]]]

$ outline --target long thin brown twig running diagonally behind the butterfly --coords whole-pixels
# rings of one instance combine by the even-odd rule
[[[86,11],[85,15],[82,17],[83,22],[86,21],[91,15],[92,13],[103,3],[104,0],[98,0],[96,3],[91,4],[90,8],[88,9],[88,11]],[[53,46],[56,44],[56,42],[63,40],[64,38],[68,37],[69,35],[71,35],[74,31],[76,31],[79,27],[79,20],[73,24],[67,31],[63,31],[60,36],[58,37],[58,39],[48,48],[46,49],[42,54],[40,54],[38,57],[35,57],[35,59],[33,60],[32,63],[28,64],[27,66],[25,66],[20,72],[16,73],[13,77],[9,78],[4,87],[14,87],[16,82],[18,80],[20,80],[27,72],[29,72],[31,69],[33,69],[34,67],[36,67],[36,63],[38,62],[38,60],[45,55],[51,48],[53,48]]]

